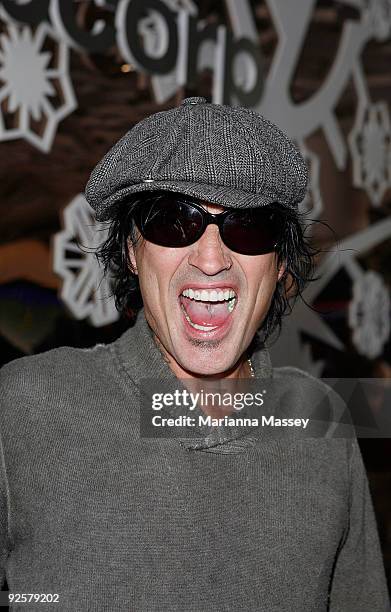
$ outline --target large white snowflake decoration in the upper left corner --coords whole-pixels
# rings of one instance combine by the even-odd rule
[[[68,48],[45,23],[35,32],[7,22],[0,36],[0,140],[24,138],[38,149],[51,149],[59,122],[76,108],[68,76]],[[55,52],[47,51],[50,42]],[[53,65],[51,64],[53,62]],[[54,96],[60,100],[58,107]],[[8,117],[15,114],[12,126]],[[39,122],[34,126],[33,122]]]

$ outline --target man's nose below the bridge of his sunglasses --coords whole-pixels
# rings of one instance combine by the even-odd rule
[[[208,276],[231,268],[230,251],[221,240],[217,225],[208,225],[201,238],[194,243],[188,261]]]

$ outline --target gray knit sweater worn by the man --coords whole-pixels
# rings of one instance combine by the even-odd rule
[[[264,350],[253,363],[300,399],[306,375],[272,370]],[[58,593],[55,609],[72,612],[388,609],[354,439],[141,438],[146,376],[174,378],[142,313],[111,345],[3,368],[0,561],[11,592]]]

